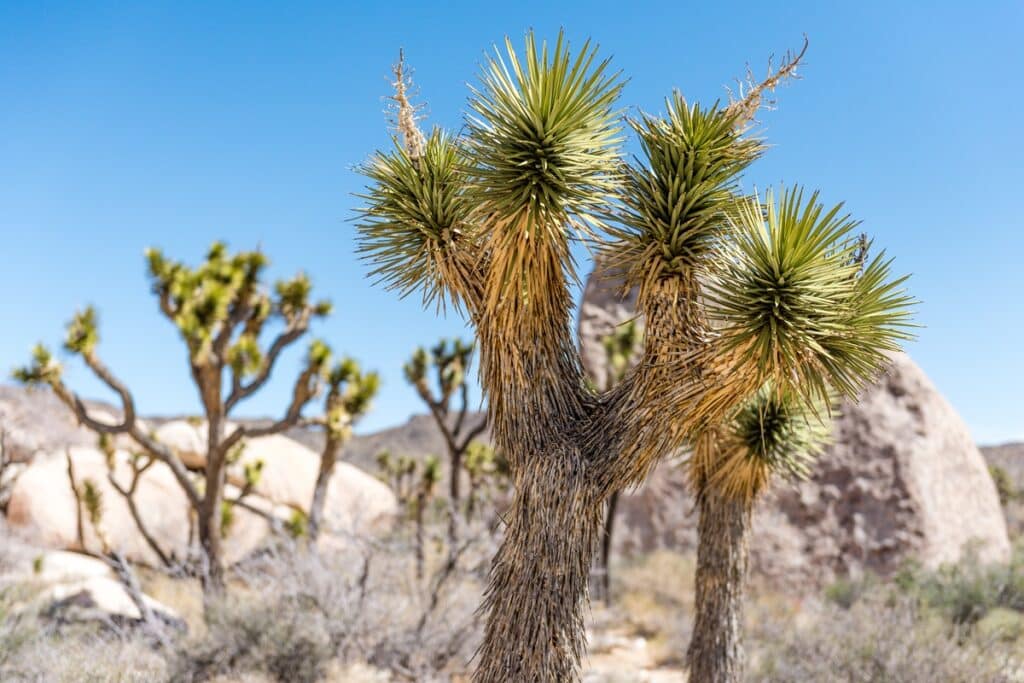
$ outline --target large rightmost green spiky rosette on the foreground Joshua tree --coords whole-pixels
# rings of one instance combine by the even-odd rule
[[[744,202],[707,295],[720,352],[808,402],[855,396],[911,336],[906,278],[882,255],[862,267],[841,210],[799,188]]]

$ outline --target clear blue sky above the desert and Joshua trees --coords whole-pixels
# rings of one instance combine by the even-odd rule
[[[311,274],[337,304],[316,332],[384,374],[364,429],[404,420],[420,407],[401,362],[464,328],[366,280],[352,167],[387,143],[399,46],[430,123],[458,127],[483,51],[530,27],[596,39],[631,77],[623,103],[646,110],[674,87],[721,97],[808,34],[748,184],[846,200],[913,273],[912,355],[978,440],[1024,438],[1018,1],[0,3],[0,369],[91,302],[140,410],[195,412],[142,250],[196,259],[224,239]],[[246,412],[276,413],[298,355]],[[103,395],[78,366],[69,381]]]

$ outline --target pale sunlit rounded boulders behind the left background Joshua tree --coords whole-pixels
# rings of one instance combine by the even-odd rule
[[[182,423],[183,424],[183,423]],[[186,425],[187,426],[187,425]],[[79,516],[70,483],[68,457],[75,480],[81,485],[90,479],[103,501],[103,530],[111,545],[128,559],[151,565],[159,558],[139,532],[124,498],[108,479],[105,456],[94,447],[74,446],[65,453],[37,456],[13,485],[7,504],[7,523],[31,535],[34,542],[48,548],[77,549]],[[116,479],[127,487],[131,481],[130,456],[116,454]],[[284,436],[250,439],[239,463],[230,469],[228,498],[244,485],[242,468],[261,461],[263,472],[255,490],[246,498],[248,506],[234,508],[224,540],[225,559],[238,561],[257,549],[271,533],[266,516],[287,522],[293,510],[308,509],[319,466],[312,451]],[[156,463],[141,476],[136,507],[146,529],[165,554],[184,558],[189,547],[189,507],[170,468]],[[342,536],[371,532],[385,526],[397,511],[397,502],[383,482],[355,467],[341,463],[335,469],[325,506],[326,533]],[[99,548],[91,525],[83,523],[85,546]]]

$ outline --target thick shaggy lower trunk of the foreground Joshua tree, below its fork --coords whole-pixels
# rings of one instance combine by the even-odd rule
[[[484,596],[487,626],[475,683],[571,683],[585,648],[587,583],[602,506],[579,458],[524,463]]]

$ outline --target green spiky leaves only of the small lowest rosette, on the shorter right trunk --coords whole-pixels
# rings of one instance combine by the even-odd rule
[[[733,421],[735,438],[748,458],[772,472],[805,478],[828,441],[827,409],[810,405],[793,391],[763,386]]]

